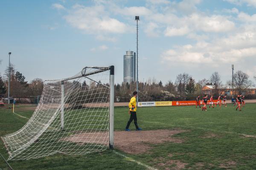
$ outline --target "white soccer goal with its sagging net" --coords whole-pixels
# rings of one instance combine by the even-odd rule
[[[44,81],[35,112],[2,137],[9,160],[113,148],[114,66],[85,67],[73,77]]]

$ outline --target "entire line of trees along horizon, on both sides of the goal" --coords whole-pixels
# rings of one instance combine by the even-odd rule
[[[26,77],[15,69],[11,64],[10,75],[9,67],[6,68],[3,76],[0,74],[0,96],[8,96],[8,79],[10,76],[10,96],[15,98],[40,96],[43,91],[44,83],[42,79],[35,78],[30,83]],[[256,79],[256,77],[254,77]],[[233,77],[234,89],[236,93],[246,93],[248,88],[253,86],[249,75],[236,71]],[[78,82],[79,83],[79,82]],[[166,84],[157,81],[155,78],[149,78],[146,82],[139,82],[139,99],[140,101],[173,101],[173,100],[194,100],[196,96],[204,95],[202,88],[205,85],[212,85],[212,94],[215,97],[220,95],[220,89],[231,87],[232,79],[223,83],[218,72],[213,72],[209,79],[201,79],[198,82],[187,73],[181,73],[176,76],[175,82],[168,81]],[[88,85],[81,84],[81,87]],[[128,102],[132,91],[136,90],[136,82],[122,82],[115,84],[115,101]],[[247,96],[255,98],[255,95],[247,93]]]

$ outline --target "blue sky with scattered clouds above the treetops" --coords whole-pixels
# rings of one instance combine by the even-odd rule
[[[256,83],[256,0],[1,0],[0,74],[11,62],[26,81],[62,79],[85,66],[115,66],[136,51],[139,81],[196,81],[231,65]]]

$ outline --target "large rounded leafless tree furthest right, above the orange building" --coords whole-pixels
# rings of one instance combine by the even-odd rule
[[[234,85],[239,93],[241,93],[242,90],[249,88],[253,85],[253,82],[249,80],[249,75],[242,72],[242,71],[236,71],[234,74]]]

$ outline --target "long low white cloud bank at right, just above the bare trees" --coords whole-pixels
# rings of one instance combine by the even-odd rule
[[[256,56],[256,33],[242,31],[228,37],[203,40],[196,44],[176,46],[162,53],[162,62],[168,63],[230,63]]]

